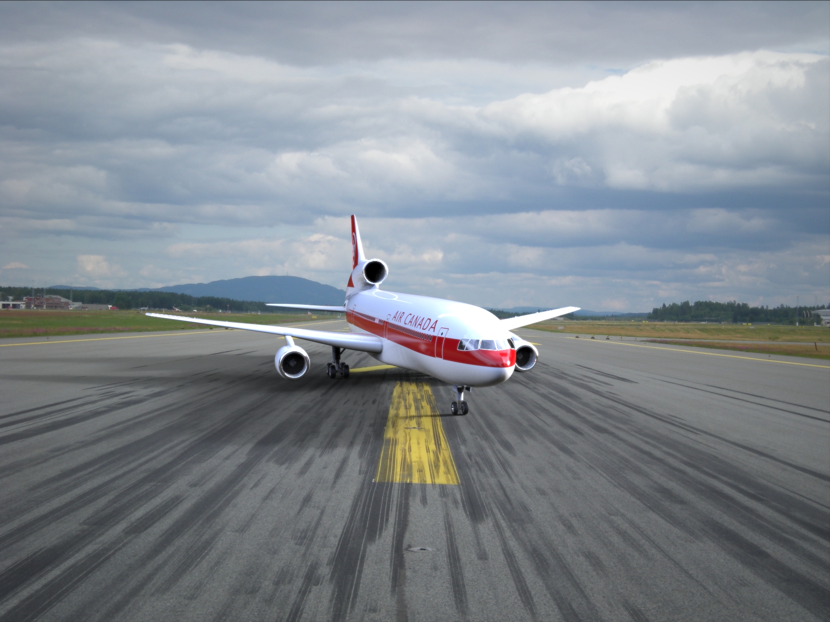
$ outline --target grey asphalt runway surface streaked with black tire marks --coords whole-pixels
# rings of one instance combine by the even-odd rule
[[[3,340],[0,620],[830,618],[823,361],[518,332],[455,417],[258,333]],[[457,484],[375,481],[396,387]]]

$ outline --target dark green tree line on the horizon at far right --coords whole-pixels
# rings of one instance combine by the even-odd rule
[[[789,307],[785,304],[779,307],[769,306],[750,307],[747,303],[735,300],[728,303],[715,303],[711,300],[698,300],[691,304],[688,300],[680,304],[663,304],[655,307],[647,316],[648,320],[657,322],[724,322],[724,323],[756,323],[769,322],[774,324],[813,323],[813,312],[818,309],[827,309],[821,306]]]

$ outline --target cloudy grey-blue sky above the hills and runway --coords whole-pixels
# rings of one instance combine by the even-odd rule
[[[830,299],[830,2],[0,4],[0,284]]]

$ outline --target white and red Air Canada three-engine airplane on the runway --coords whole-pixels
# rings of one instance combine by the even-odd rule
[[[281,377],[288,380],[305,376],[311,367],[308,353],[294,339],[331,346],[331,362],[326,363],[326,373],[333,379],[349,377],[349,365],[340,360],[345,350],[368,352],[387,365],[422,372],[452,385],[456,400],[452,401],[450,411],[453,415],[466,415],[469,406],[465,391],[472,391],[474,386],[500,384],[514,371],[530,372],[539,359],[539,351],[532,343],[510,331],[579,310],[579,307],[564,307],[499,319],[472,304],[380,289],[389,274],[388,266],[383,260],[365,258],[354,214],[351,221],[352,272],[344,305],[268,304],[309,312],[345,313],[349,333],[146,314],[178,322],[281,335],[286,338],[286,345],[276,352],[274,364]]]

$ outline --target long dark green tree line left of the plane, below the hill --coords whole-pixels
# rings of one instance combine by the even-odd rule
[[[43,289],[34,289],[36,296],[43,295]],[[29,287],[0,287],[3,299],[12,296],[12,299],[22,300],[32,295]],[[265,303],[251,300],[234,300],[217,296],[190,296],[173,292],[134,292],[113,291],[110,289],[46,289],[47,296],[63,296],[74,302],[83,304],[111,304],[119,309],[182,309],[183,311],[236,311],[247,313],[257,311],[263,313],[291,313],[291,309],[266,307]]]

